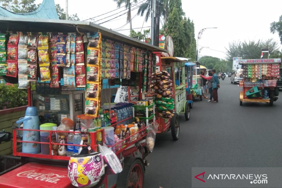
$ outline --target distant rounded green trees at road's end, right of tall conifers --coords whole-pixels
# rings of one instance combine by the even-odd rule
[[[232,61],[226,61],[212,56],[203,56],[199,62],[208,69],[215,69],[216,72],[230,72],[232,70]]]

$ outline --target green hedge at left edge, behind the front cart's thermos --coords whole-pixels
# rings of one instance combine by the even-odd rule
[[[21,107],[28,104],[27,89],[18,89],[18,84],[0,84],[0,110]]]

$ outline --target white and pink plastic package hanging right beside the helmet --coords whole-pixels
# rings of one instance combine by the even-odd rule
[[[107,168],[109,168],[109,170],[106,171],[106,174],[118,174],[122,172],[122,164],[120,163],[120,160],[105,143],[103,145],[99,144],[99,151],[103,155],[104,162],[108,165]]]

